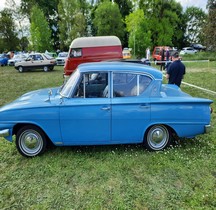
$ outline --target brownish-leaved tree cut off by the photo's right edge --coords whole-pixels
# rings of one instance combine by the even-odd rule
[[[208,0],[208,18],[205,33],[205,44],[208,49],[216,51],[216,0]]]

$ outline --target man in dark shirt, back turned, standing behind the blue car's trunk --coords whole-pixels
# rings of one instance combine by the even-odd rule
[[[179,59],[178,52],[176,52],[172,58],[173,63],[171,63],[167,69],[166,78],[168,79],[168,84],[175,84],[180,87],[181,81],[186,73],[185,65]]]

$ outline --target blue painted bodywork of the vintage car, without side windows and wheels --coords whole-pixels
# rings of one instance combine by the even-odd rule
[[[80,78],[89,72],[107,73],[108,97],[74,96]],[[115,97],[116,72],[145,75],[151,82],[140,95]],[[160,71],[139,64],[82,64],[63,88],[51,88],[52,94],[48,94],[50,89],[32,91],[1,107],[0,132],[9,129],[4,138],[12,141],[18,127],[33,124],[55,145],[141,143],[146,130],[155,124],[166,125],[179,137],[205,133],[212,101],[191,97],[175,85],[162,84],[162,78]]]

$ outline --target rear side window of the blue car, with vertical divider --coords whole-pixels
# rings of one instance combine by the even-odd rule
[[[151,83],[151,78],[145,75],[114,73],[113,97],[131,97],[142,94]]]

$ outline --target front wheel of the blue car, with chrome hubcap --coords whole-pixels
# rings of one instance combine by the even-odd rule
[[[47,145],[46,135],[34,125],[22,127],[16,135],[16,147],[21,155],[34,157],[42,154]]]

